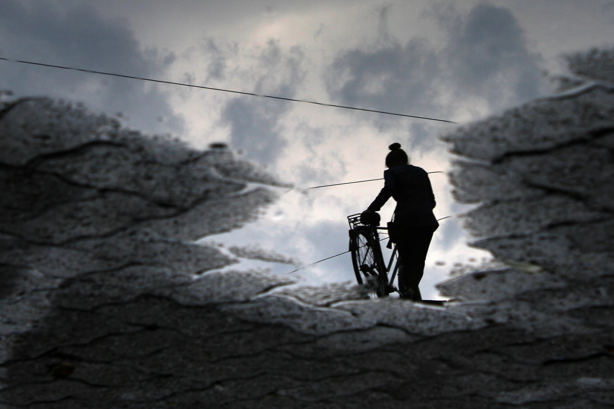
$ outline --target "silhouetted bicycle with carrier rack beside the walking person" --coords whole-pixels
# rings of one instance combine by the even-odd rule
[[[384,256],[381,246],[379,246],[379,242],[386,239],[380,240],[378,230],[388,230],[388,228],[362,224],[360,213],[348,216],[348,223],[350,227],[349,251],[352,253],[352,265],[358,284],[375,289],[375,294],[378,297],[388,297],[391,292],[400,294],[398,289],[392,285],[397,276],[398,268],[401,267],[398,260],[397,245],[395,244],[392,248],[392,255],[387,265],[384,263]],[[394,270],[392,270],[391,279],[388,279],[388,273],[395,258],[397,262],[394,265]],[[365,276],[366,283],[363,283],[362,276]]]

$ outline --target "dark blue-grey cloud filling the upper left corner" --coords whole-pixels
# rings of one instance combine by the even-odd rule
[[[123,20],[103,20],[93,7],[62,9],[37,1],[31,7],[0,2],[0,53],[7,58],[130,76],[156,77],[173,63],[172,53],[142,51]],[[167,96],[142,81],[53,68],[1,63],[0,87],[18,96],[45,95],[84,101],[96,111],[125,112],[130,126],[148,131],[180,131]],[[158,118],[165,120],[158,122]]]

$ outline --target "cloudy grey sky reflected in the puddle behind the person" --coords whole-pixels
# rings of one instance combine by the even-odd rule
[[[550,93],[548,76],[565,73],[562,53],[611,48],[614,1],[0,0],[0,37],[7,58],[467,123]],[[82,101],[196,147],[226,141],[297,185],[255,224],[205,241],[258,243],[313,262],[347,249],[345,217],[362,211],[381,184],[300,189],[381,177],[391,142],[427,171],[449,166],[437,139],[454,129],[445,123],[4,61],[0,69],[0,88],[17,96]],[[468,209],[453,203],[443,174],[431,180],[436,216]],[[383,217],[392,209],[387,204]],[[435,233],[427,297],[453,263],[488,257],[465,246],[460,225],[446,219]],[[349,255],[301,276],[353,279]]]

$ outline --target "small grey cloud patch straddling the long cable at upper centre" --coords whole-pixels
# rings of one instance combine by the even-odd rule
[[[252,69],[251,77],[256,85],[250,91],[294,98],[305,77],[301,68],[303,58],[300,48],[293,47],[284,53],[277,42],[269,41]],[[287,144],[278,122],[288,108],[287,101],[233,98],[223,108],[222,123],[230,126],[233,147],[244,150],[247,157],[260,163],[272,163]]]

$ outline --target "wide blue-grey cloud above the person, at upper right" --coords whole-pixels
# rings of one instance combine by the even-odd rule
[[[385,22],[385,12],[381,18]],[[500,109],[537,95],[537,56],[527,51],[523,30],[509,10],[483,4],[466,16],[439,14],[437,20],[447,33],[441,50],[414,38],[405,45],[384,39],[374,49],[341,53],[327,72],[331,98],[445,119],[473,97]],[[452,103],[445,98],[449,93],[455,96]]]

